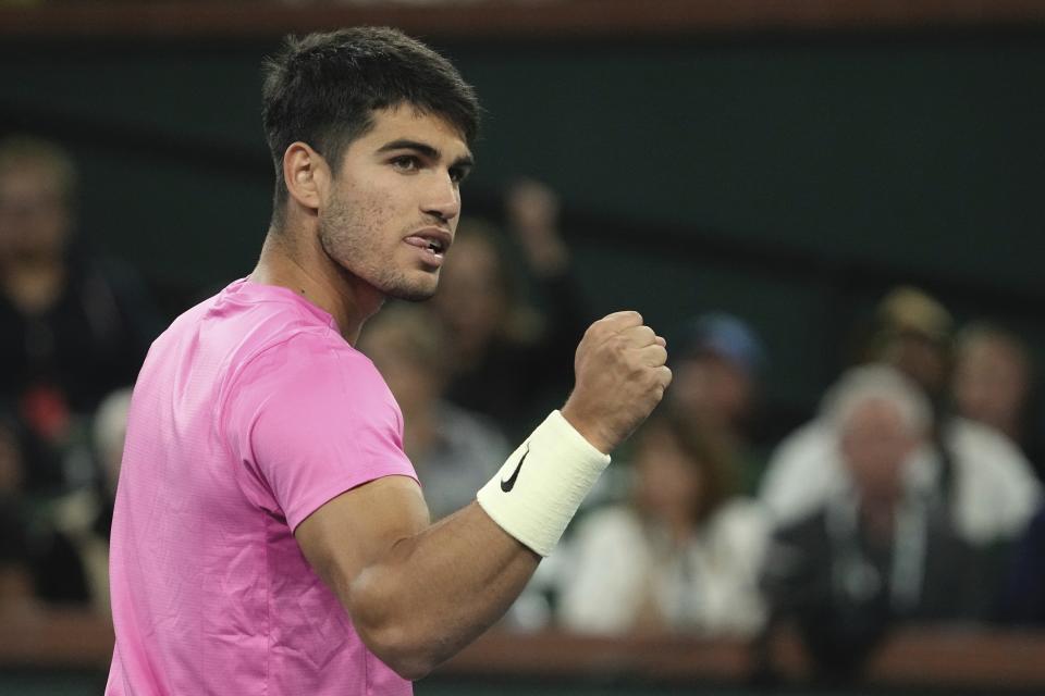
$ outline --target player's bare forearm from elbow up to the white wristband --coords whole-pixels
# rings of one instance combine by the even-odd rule
[[[419,679],[493,625],[539,561],[471,504],[399,540],[340,594],[367,646]]]

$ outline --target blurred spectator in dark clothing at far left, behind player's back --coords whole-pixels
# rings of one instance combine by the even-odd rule
[[[77,179],[58,146],[0,140],[0,400],[25,428],[30,490],[70,483],[78,421],[134,381],[159,327],[134,275],[74,235]]]

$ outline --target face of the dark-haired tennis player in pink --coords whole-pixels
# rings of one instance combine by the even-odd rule
[[[323,250],[386,297],[428,299],[460,214],[471,154],[460,133],[409,107],[376,111],[317,211]]]

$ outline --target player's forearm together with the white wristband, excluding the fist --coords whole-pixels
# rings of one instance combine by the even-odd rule
[[[608,460],[565,417],[549,415],[475,504],[403,534],[345,576],[342,596],[367,645],[411,676],[467,645],[552,552]]]

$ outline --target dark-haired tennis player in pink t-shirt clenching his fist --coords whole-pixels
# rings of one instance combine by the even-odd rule
[[[353,345],[385,298],[435,293],[478,113],[393,29],[288,39],[268,62],[260,260],[174,321],[134,389],[107,694],[409,694],[504,613],[660,400],[663,339],[635,312],[595,322],[562,410],[431,524]]]

